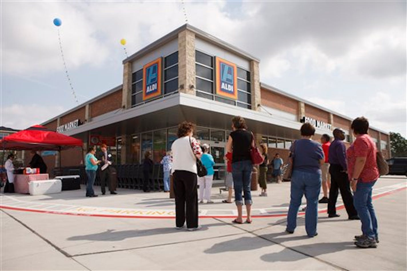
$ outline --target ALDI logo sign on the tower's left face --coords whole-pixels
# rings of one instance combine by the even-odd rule
[[[143,101],[161,95],[161,57],[143,67]]]

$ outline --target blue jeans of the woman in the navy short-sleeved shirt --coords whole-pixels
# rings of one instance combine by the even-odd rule
[[[305,194],[305,230],[309,237],[317,233],[318,196],[321,190],[321,173],[310,173],[294,170],[291,176],[291,201],[287,215],[287,230],[294,231],[297,227],[298,208]]]

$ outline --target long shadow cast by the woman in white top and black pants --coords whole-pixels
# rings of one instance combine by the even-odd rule
[[[208,230],[209,227],[224,226],[224,223],[214,223],[210,225],[202,225],[199,231]],[[122,241],[127,238],[136,238],[143,236],[153,236],[160,234],[173,234],[177,232],[189,233],[186,229],[175,229],[175,227],[155,228],[155,229],[134,229],[125,231],[116,231],[115,229],[107,229],[105,232],[95,234],[71,236],[67,238],[69,241],[88,240],[88,241]]]

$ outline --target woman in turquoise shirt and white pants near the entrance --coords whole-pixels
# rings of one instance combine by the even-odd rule
[[[215,164],[215,161],[213,160],[212,155],[208,153],[208,144],[202,144],[201,148],[204,152],[201,156],[201,162],[208,171],[208,174],[204,177],[199,177],[199,203],[204,203],[204,199],[206,199],[206,203],[213,203],[213,201],[210,200],[210,190],[212,189],[214,174],[213,165]]]

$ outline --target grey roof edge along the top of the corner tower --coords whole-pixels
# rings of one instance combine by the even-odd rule
[[[178,33],[184,31],[184,30],[189,30],[193,33],[195,33],[195,35],[197,35],[198,37],[200,37],[201,39],[204,39],[208,42],[214,43],[217,46],[220,46],[226,50],[229,50],[231,52],[234,52],[237,55],[240,55],[241,57],[244,57],[246,59],[250,59],[250,60],[255,60],[257,62],[260,62],[260,59],[258,59],[257,57],[254,57],[252,55],[250,55],[249,53],[240,50],[239,48],[237,48],[236,46],[233,46],[232,44],[229,44],[227,42],[222,41],[221,39],[218,39],[217,37],[214,37],[194,26],[191,26],[190,24],[184,24],[182,26],[180,26],[179,28],[175,29],[174,31],[171,31],[170,33],[168,33],[167,35],[165,35],[164,37],[161,37],[160,39],[157,39],[155,42],[145,46],[144,48],[142,48],[141,50],[135,52],[133,55],[127,57],[125,60],[123,60],[123,64],[133,61],[135,59],[138,59],[139,57],[142,57],[143,55],[155,50],[156,48],[166,44],[167,42],[175,39],[178,37]]]

